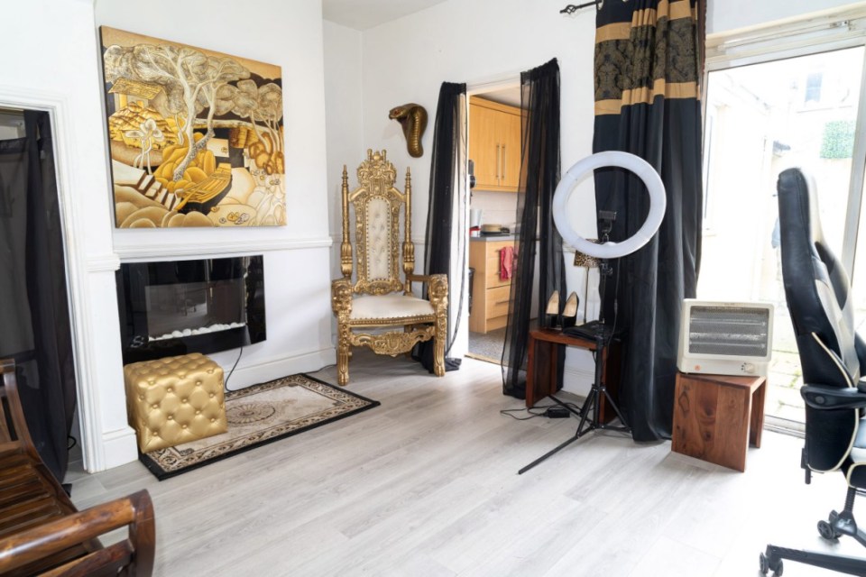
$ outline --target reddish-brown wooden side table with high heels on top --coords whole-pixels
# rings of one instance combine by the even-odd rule
[[[526,367],[526,406],[534,407],[539,400],[548,395],[556,394],[557,362],[560,344],[576,346],[587,351],[595,351],[595,341],[563,334],[562,331],[549,328],[538,328],[530,331],[529,354]],[[620,343],[613,340],[610,346],[604,347],[601,359],[602,380],[614,400],[617,399],[620,383]],[[609,406],[607,398],[600,399],[600,418],[608,423],[616,417],[616,412]]]

